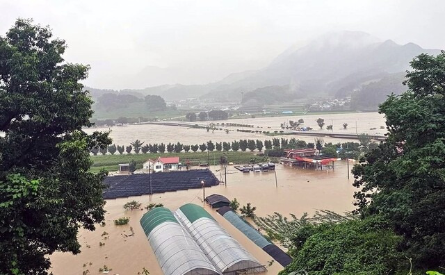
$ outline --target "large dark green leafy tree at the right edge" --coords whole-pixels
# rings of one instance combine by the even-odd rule
[[[353,168],[355,199],[362,217],[381,215],[403,236],[413,263],[436,268],[445,265],[445,52],[411,67],[407,92],[380,105],[387,140]]]

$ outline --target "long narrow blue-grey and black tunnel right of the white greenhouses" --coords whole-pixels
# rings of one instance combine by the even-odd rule
[[[261,247],[266,253],[268,253],[274,260],[276,260],[280,265],[286,267],[290,263],[292,263],[292,258],[284,253],[280,247],[277,247],[275,244],[270,243],[266,238],[264,238],[261,233],[259,233],[255,228],[250,226],[247,222],[244,221],[241,217],[236,214],[232,208],[223,207],[217,210],[220,215],[223,215],[227,221],[229,221],[233,226],[238,228],[239,231],[243,232],[244,235],[252,240],[257,246]]]

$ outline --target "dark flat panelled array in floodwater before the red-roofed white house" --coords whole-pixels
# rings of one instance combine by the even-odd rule
[[[151,179],[151,190],[150,190]],[[129,176],[108,176],[104,183],[104,199],[116,199],[144,194],[164,193],[192,188],[218,185],[218,178],[209,169],[163,172],[154,174],[136,174]]]

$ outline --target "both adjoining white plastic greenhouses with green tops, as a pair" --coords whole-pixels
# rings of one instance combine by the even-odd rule
[[[154,208],[140,224],[165,275],[267,271],[201,206],[188,203],[175,213]]]

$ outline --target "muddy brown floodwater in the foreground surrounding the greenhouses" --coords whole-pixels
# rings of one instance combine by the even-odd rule
[[[350,163],[352,168],[353,163]],[[224,179],[223,169],[220,166],[211,167],[218,178]],[[350,211],[353,206],[353,177],[347,178],[347,163],[335,163],[335,170],[313,170],[277,165],[276,178],[273,171],[243,174],[228,167],[227,186],[224,184],[206,188],[205,196],[210,194],[223,194],[232,200],[236,197],[241,206],[252,203],[256,206],[256,214],[264,217],[274,212],[289,216],[289,213],[300,217],[303,213],[312,215],[316,210],[333,210],[337,213]],[[277,185],[277,186],[276,186]],[[150,274],[162,274],[154,253],[149,245],[145,233],[139,224],[145,210],[124,211],[122,206],[127,201],[136,199],[146,206],[149,202],[163,203],[165,207],[176,210],[185,203],[203,205],[202,189],[185,190],[154,194],[153,196],[129,197],[108,200],[106,202],[106,226],[98,226],[94,232],[81,230],[79,241],[82,252],[73,256],[70,253],[54,253],[51,256],[52,269],[55,275],[82,274],[89,269],[89,274],[99,274],[99,267],[106,265],[112,271],[109,274],[136,275],[146,267]],[[238,240],[252,255],[267,266],[270,256],[250,241],[241,231],[234,228],[215,210],[206,206],[207,211],[230,234]],[[129,224],[115,226],[114,219],[130,217]],[[134,235],[130,235],[133,228]],[[108,235],[102,236],[102,233]],[[109,236],[107,240],[104,237]],[[99,246],[99,242],[105,245]],[[87,244],[89,248],[87,247]],[[91,265],[89,264],[91,263]],[[83,267],[83,265],[86,265]],[[268,267],[267,274],[277,274],[282,266],[273,263]]]

